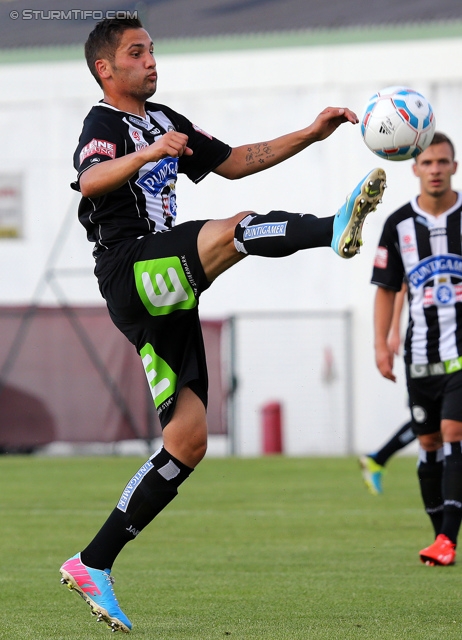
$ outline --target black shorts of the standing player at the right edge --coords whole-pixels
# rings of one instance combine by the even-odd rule
[[[441,420],[462,422],[462,371],[412,378],[406,367],[412,428],[416,435],[441,430]]]

